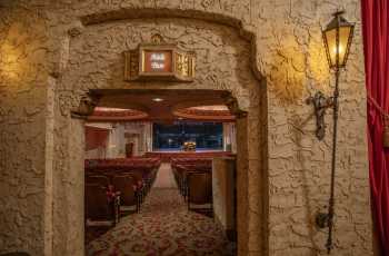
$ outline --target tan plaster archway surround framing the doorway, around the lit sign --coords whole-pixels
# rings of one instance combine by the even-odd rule
[[[124,13],[124,14],[123,14]],[[138,13],[137,17],[128,16]],[[140,13],[140,14],[139,14]],[[141,14],[143,13],[143,14]],[[231,109],[239,115],[238,128],[238,249],[240,255],[266,254],[267,240],[267,101],[266,88],[252,67],[253,36],[243,33],[236,21],[219,17],[193,19],[193,13],[137,10],[84,17],[83,24],[69,30],[62,49],[66,72],[56,91],[53,248],[62,255],[83,253],[83,120],[71,110],[88,107],[93,89],[213,89],[231,93]],[[113,17],[113,18],[112,18]],[[120,18],[121,20],[118,21]],[[144,19],[128,19],[140,18]],[[126,19],[124,19],[126,18]],[[152,19],[151,19],[152,18]],[[217,19],[218,22],[210,22]],[[91,21],[92,20],[92,21]],[[240,28],[240,27],[239,27]],[[158,32],[167,41],[197,55],[192,83],[124,82],[122,51],[136,48]],[[242,37],[245,35],[245,37]],[[249,36],[248,36],[249,35]]]

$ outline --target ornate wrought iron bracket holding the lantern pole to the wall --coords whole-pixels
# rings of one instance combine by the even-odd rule
[[[315,93],[306,100],[307,105],[313,105],[316,116],[316,137],[322,140],[326,136],[325,115],[329,107],[333,106],[333,98],[326,97],[321,91]]]

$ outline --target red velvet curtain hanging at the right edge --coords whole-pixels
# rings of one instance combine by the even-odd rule
[[[372,211],[385,256],[389,256],[389,150],[382,145],[383,115],[389,114],[388,2],[361,1]]]

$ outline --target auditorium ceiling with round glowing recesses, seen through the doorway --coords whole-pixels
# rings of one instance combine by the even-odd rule
[[[89,121],[173,120],[233,121],[217,90],[99,90],[99,106]]]

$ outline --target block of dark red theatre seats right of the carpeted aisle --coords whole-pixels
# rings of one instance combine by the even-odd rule
[[[171,167],[188,209],[211,214],[213,211],[212,159],[172,158]]]

